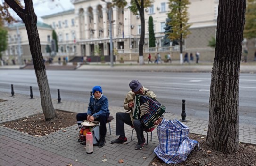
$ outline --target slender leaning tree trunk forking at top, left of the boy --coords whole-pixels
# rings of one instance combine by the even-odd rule
[[[14,0],[5,0],[5,2],[19,15],[25,24],[30,52],[32,54],[33,65],[40,91],[41,106],[45,116],[45,120],[49,121],[57,117],[52,104],[50,88],[46,76],[45,65],[43,62],[40,38],[37,30],[37,16],[34,13],[32,0],[25,0],[25,9],[17,5]]]

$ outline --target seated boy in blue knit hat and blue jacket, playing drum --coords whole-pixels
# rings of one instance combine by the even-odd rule
[[[78,113],[76,115],[77,125],[80,126],[84,120],[87,121],[99,121],[100,122],[100,140],[98,147],[101,148],[105,145],[105,136],[107,132],[106,123],[109,117],[108,100],[107,97],[102,94],[100,86],[94,86],[92,88],[92,96],[90,97],[87,113]],[[78,139],[78,142],[80,140]]]

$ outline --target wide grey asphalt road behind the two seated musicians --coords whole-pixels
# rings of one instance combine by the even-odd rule
[[[186,100],[187,117],[208,120],[211,73],[169,72],[118,72],[118,71],[47,71],[53,99],[88,102],[93,86],[100,85],[109,105],[122,106],[132,79],[154,91],[157,99],[166,106],[167,112],[180,115],[182,99]],[[29,86],[33,95],[39,96],[34,70],[0,70],[0,92],[27,94]],[[85,108],[86,111],[86,108]],[[239,86],[239,121],[255,124],[256,121],[256,75],[241,74]]]

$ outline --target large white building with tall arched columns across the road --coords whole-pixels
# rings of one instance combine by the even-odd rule
[[[129,4],[128,0],[128,4]],[[189,24],[191,24],[191,34],[184,39],[184,52],[195,54],[201,53],[200,60],[213,61],[215,49],[208,45],[209,40],[216,35],[216,24],[218,14],[218,0],[190,0],[188,8]],[[97,50],[101,50],[100,55],[109,59],[110,55],[110,26],[109,26],[109,3],[101,0],[73,0],[74,9],[42,17],[43,22],[50,25],[58,35],[58,54],[57,56],[90,56],[95,58],[98,55]],[[128,7],[129,5],[127,5]],[[138,44],[140,40],[140,16],[133,15],[125,7],[124,9],[113,7],[110,10],[113,20],[112,37],[113,47],[118,50],[118,60],[123,57],[124,60],[138,59]],[[173,60],[179,59],[178,49],[172,47],[163,47],[164,27],[167,13],[169,12],[168,1],[157,0],[149,8],[145,8],[145,44],[144,60],[151,53],[160,53],[162,57],[171,52]],[[153,17],[154,31],[156,37],[156,48],[148,48],[149,32],[148,19]],[[49,27],[48,27],[49,28]],[[44,31],[38,27],[42,49],[48,42],[50,45],[49,31]],[[48,29],[49,30],[49,29]],[[14,38],[16,31],[10,29],[10,36]],[[25,32],[24,32],[25,33]],[[27,40],[22,40],[22,46]],[[27,43],[28,44],[28,43]],[[48,56],[43,50],[43,56]],[[22,56],[29,55],[23,53]]]

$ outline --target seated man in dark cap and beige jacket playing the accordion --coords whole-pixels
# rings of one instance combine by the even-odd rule
[[[157,98],[155,93],[153,91],[149,91],[147,88],[143,87],[142,84],[138,80],[132,80],[129,84],[131,91],[128,92],[124,99],[124,109],[131,111],[134,106],[134,98],[136,94],[145,95],[151,98]],[[128,112],[127,111],[127,112]],[[163,119],[163,116],[158,118],[157,121],[154,122],[154,125],[158,125],[161,123]],[[133,119],[132,112],[130,113],[123,113],[118,112],[116,113],[116,135],[119,135],[119,138],[112,140],[112,144],[127,144],[127,138],[125,137],[125,131],[124,131],[124,123],[130,126],[134,126],[134,129],[136,131],[138,143],[135,146],[136,150],[140,150],[144,147],[145,144],[145,138],[143,135],[143,131],[145,126],[143,125],[142,121],[139,119]]]

